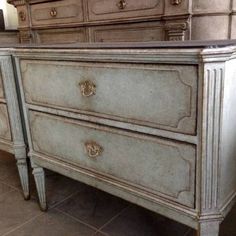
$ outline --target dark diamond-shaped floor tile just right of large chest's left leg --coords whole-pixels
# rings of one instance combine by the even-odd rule
[[[127,206],[127,202],[86,186],[58,209],[96,228],[101,227]]]

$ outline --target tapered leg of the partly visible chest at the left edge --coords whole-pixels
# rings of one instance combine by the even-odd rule
[[[29,169],[25,148],[15,149],[15,158],[17,160],[17,168],[20,176],[20,182],[23,189],[25,200],[30,198],[29,192]]]

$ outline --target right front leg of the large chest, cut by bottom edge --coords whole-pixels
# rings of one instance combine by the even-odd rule
[[[219,236],[220,221],[205,221],[199,224],[197,236]]]

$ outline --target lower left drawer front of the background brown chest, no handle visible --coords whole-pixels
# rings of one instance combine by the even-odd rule
[[[86,42],[85,29],[51,29],[37,30],[36,43],[40,44],[59,44]]]

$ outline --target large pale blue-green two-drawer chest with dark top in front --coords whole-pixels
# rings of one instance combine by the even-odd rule
[[[236,197],[236,48],[102,44],[14,53],[43,168],[217,236]]]

